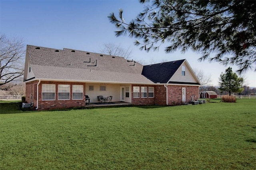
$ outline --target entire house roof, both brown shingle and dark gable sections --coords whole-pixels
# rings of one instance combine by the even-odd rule
[[[128,62],[124,57],[27,45],[24,81],[41,79],[121,84],[168,83],[184,61],[186,60],[143,66],[134,61]]]

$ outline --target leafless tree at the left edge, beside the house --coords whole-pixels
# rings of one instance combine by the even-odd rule
[[[4,84],[10,88],[20,81],[24,74],[24,40],[18,37],[8,39],[0,34],[0,90]]]

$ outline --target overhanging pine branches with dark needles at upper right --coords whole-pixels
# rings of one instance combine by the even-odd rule
[[[255,11],[255,0],[152,0],[129,23],[122,9],[119,19],[114,13],[108,19],[118,29],[117,37],[129,33],[129,37],[142,40],[135,41],[141,50],[155,51],[168,42],[167,53],[192,49],[201,53],[199,61],[236,64],[243,72],[256,71]]]

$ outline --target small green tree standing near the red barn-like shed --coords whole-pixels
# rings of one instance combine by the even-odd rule
[[[243,88],[241,87],[242,82],[244,81],[243,78],[238,77],[238,75],[232,71],[231,67],[228,67],[226,69],[225,73],[220,74],[219,78],[219,90],[227,91],[229,93],[229,96],[231,93],[239,93],[243,91]]]

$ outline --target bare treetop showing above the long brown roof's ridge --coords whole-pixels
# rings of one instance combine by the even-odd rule
[[[100,49],[100,53],[106,55],[114,55],[118,57],[124,57],[125,59],[130,59],[132,55],[132,50],[130,47],[128,49],[124,49],[121,45],[115,45],[113,43],[105,43],[103,47]]]

